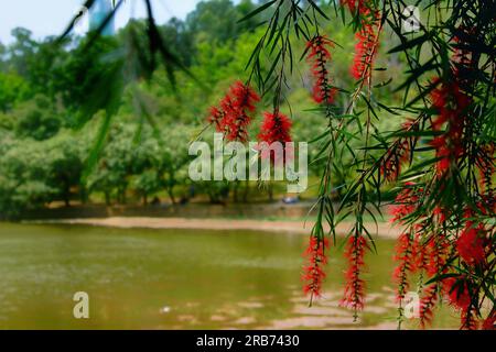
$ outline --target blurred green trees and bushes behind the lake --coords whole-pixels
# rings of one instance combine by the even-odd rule
[[[177,72],[175,84],[166,79],[164,68],[150,79],[123,84],[127,78],[122,77],[143,68],[133,66],[134,56],[119,58],[126,62],[123,66],[115,65],[116,57],[129,45],[129,37],[138,41],[134,50],[147,45],[145,21],[133,20],[115,37],[100,37],[89,48],[86,37],[69,37],[64,45],[54,45],[54,37],[36,42],[28,30],[13,30],[15,41],[8,46],[0,44],[0,217],[22,216],[24,210],[56,204],[179,202],[193,194],[198,201],[212,202],[280,197],[284,193],[280,184],[265,188],[257,188],[256,183],[193,185],[187,177],[187,147],[206,125],[208,107],[217,103],[233,81],[247,78],[245,66],[262,31],[257,24],[263,19],[237,21],[257,6],[249,0],[238,4],[205,1],[184,21],[172,19],[161,25],[169,50],[194,76]],[[334,21],[326,34],[338,44],[330,67],[333,84],[351,87],[353,30]],[[399,81],[405,63],[399,55],[384,55],[397,44],[391,37],[387,31],[382,35],[375,78],[385,82],[377,99],[388,103],[403,98],[390,82]],[[295,57],[304,45],[301,41],[295,47]],[[104,85],[101,77],[106,78]],[[311,141],[326,127],[312,105],[311,86],[309,67],[302,59],[284,91],[290,105],[283,109],[293,119],[295,142]],[[348,98],[339,94],[336,109],[345,107]],[[250,131],[252,140],[265,109],[271,109],[271,97],[263,97],[259,105]],[[401,120],[380,118],[377,125],[386,131]],[[109,125],[108,133],[99,138],[103,124]],[[212,133],[208,129],[202,138],[209,141]],[[310,155],[317,150],[311,145]],[[346,153],[341,157],[346,158]],[[88,167],[91,160],[95,165]],[[310,188],[302,198],[315,195],[315,176],[321,168],[321,163],[311,163]],[[344,168],[336,185],[354,172],[353,167]]]

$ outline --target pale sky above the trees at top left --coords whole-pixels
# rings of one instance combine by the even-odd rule
[[[0,0],[0,42],[11,43],[10,32],[18,26],[32,31],[35,40],[58,35],[84,2],[84,0]],[[164,23],[173,16],[184,19],[198,2],[201,1],[152,0],[152,7],[157,22]],[[126,0],[117,14],[116,26],[123,26],[131,16],[145,16],[142,3],[142,0]],[[86,22],[82,20],[76,29],[79,34],[85,31]]]

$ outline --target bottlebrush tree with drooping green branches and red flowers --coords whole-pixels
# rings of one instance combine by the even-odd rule
[[[349,217],[344,255],[348,263],[342,305],[366,309],[363,273],[368,252],[376,251],[374,229],[364,222],[384,208],[385,186],[395,187],[393,221],[402,229],[391,273],[397,284],[398,321],[411,279],[420,277],[420,323],[428,327],[442,299],[460,311],[461,328],[494,329],[496,320],[496,6],[484,0],[417,1],[424,21],[405,33],[408,4],[398,0],[272,0],[247,18],[266,13],[263,31],[247,65],[247,82],[235,82],[208,121],[229,140],[246,142],[255,103],[272,97],[259,134],[262,141],[291,141],[291,121],[280,112],[288,75],[300,53],[310,64],[311,96],[326,130],[319,142],[325,160],[315,205],[316,221],[305,252],[302,278],[310,300],[322,290],[330,245],[337,222]],[[341,19],[339,19],[341,18]],[[349,75],[355,84],[336,87],[331,76],[333,41],[325,22],[345,21],[355,31]],[[381,36],[397,38],[387,55],[408,63],[403,81],[376,81]],[[301,43],[301,44],[300,44]],[[300,45],[299,45],[300,44]],[[269,64],[267,65],[267,57]],[[395,77],[396,78],[396,77]],[[388,106],[376,94],[387,84],[403,92],[402,103]],[[256,87],[256,88],[255,88]],[[346,98],[346,99],[343,99]],[[337,100],[346,101],[343,107]],[[267,100],[267,99],[265,99]],[[382,116],[403,119],[395,132],[381,131]],[[352,146],[352,140],[354,146]],[[362,143],[356,147],[357,141]],[[346,151],[352,163],[342,157]],[[339,168],[356,169],[353,182],[334,183]],[[341,199],[333,190],[344,189]]]

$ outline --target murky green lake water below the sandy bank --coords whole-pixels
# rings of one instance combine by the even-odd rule
[[[308,307],[305,242],[289,233],[0,223],[0,328],[396,327],[392,241],[368,255],[369,298],[358,322],[338,307],[344,262],[336,250],[324,297]],[[73,316],[76,292],[89,295],[89,319]],[[434,327],[456,324],[444,308]]]

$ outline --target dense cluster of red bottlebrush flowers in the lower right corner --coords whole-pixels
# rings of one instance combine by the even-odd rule
[[[414,185],[410,183],[398,195],[396,199],[398,205],[392,208],[395,222],[401,224],[402,219],[417,209],[420,205],[419,193],[422,191],[422,188],[414,188]],[[465,271],[485,265],[488,255],[486,249],[489,244],[488,231],[483,224],[476,224],[473,221],[474,217],[472,210],[465,211],[465,228],[455,242],[450,242],[448,239],[444,229],[449,213],[441,208],[434,209],[432,217],[432,221],[438,227],[436,233],[429,235],[423,221],[421,221],[411,226],[410,231],[401,234],[398,239],[395,255],[398,264],[393,272],[393,278],[398,284],[397,299],[400,302],[409,287],[409,274],[424,273],[427,279],[450,274],[423,288],[420,301],[422,328],[431,322],[433,309],[440,298],[446,298],[453,307],[461,310],[462,328],[475,329],[479,326],[475,316],[475,307],[472,305],[474,297],[478,296],[477,292],[473,289],[473,284],[467,275],[455,274],[456,272],[452,272],[446,265],[453,252],[465,263]],[[427,219],[425,216],[425,222]],[[494,315],[489,316],[481,327],[493,327],[494,320]]]

